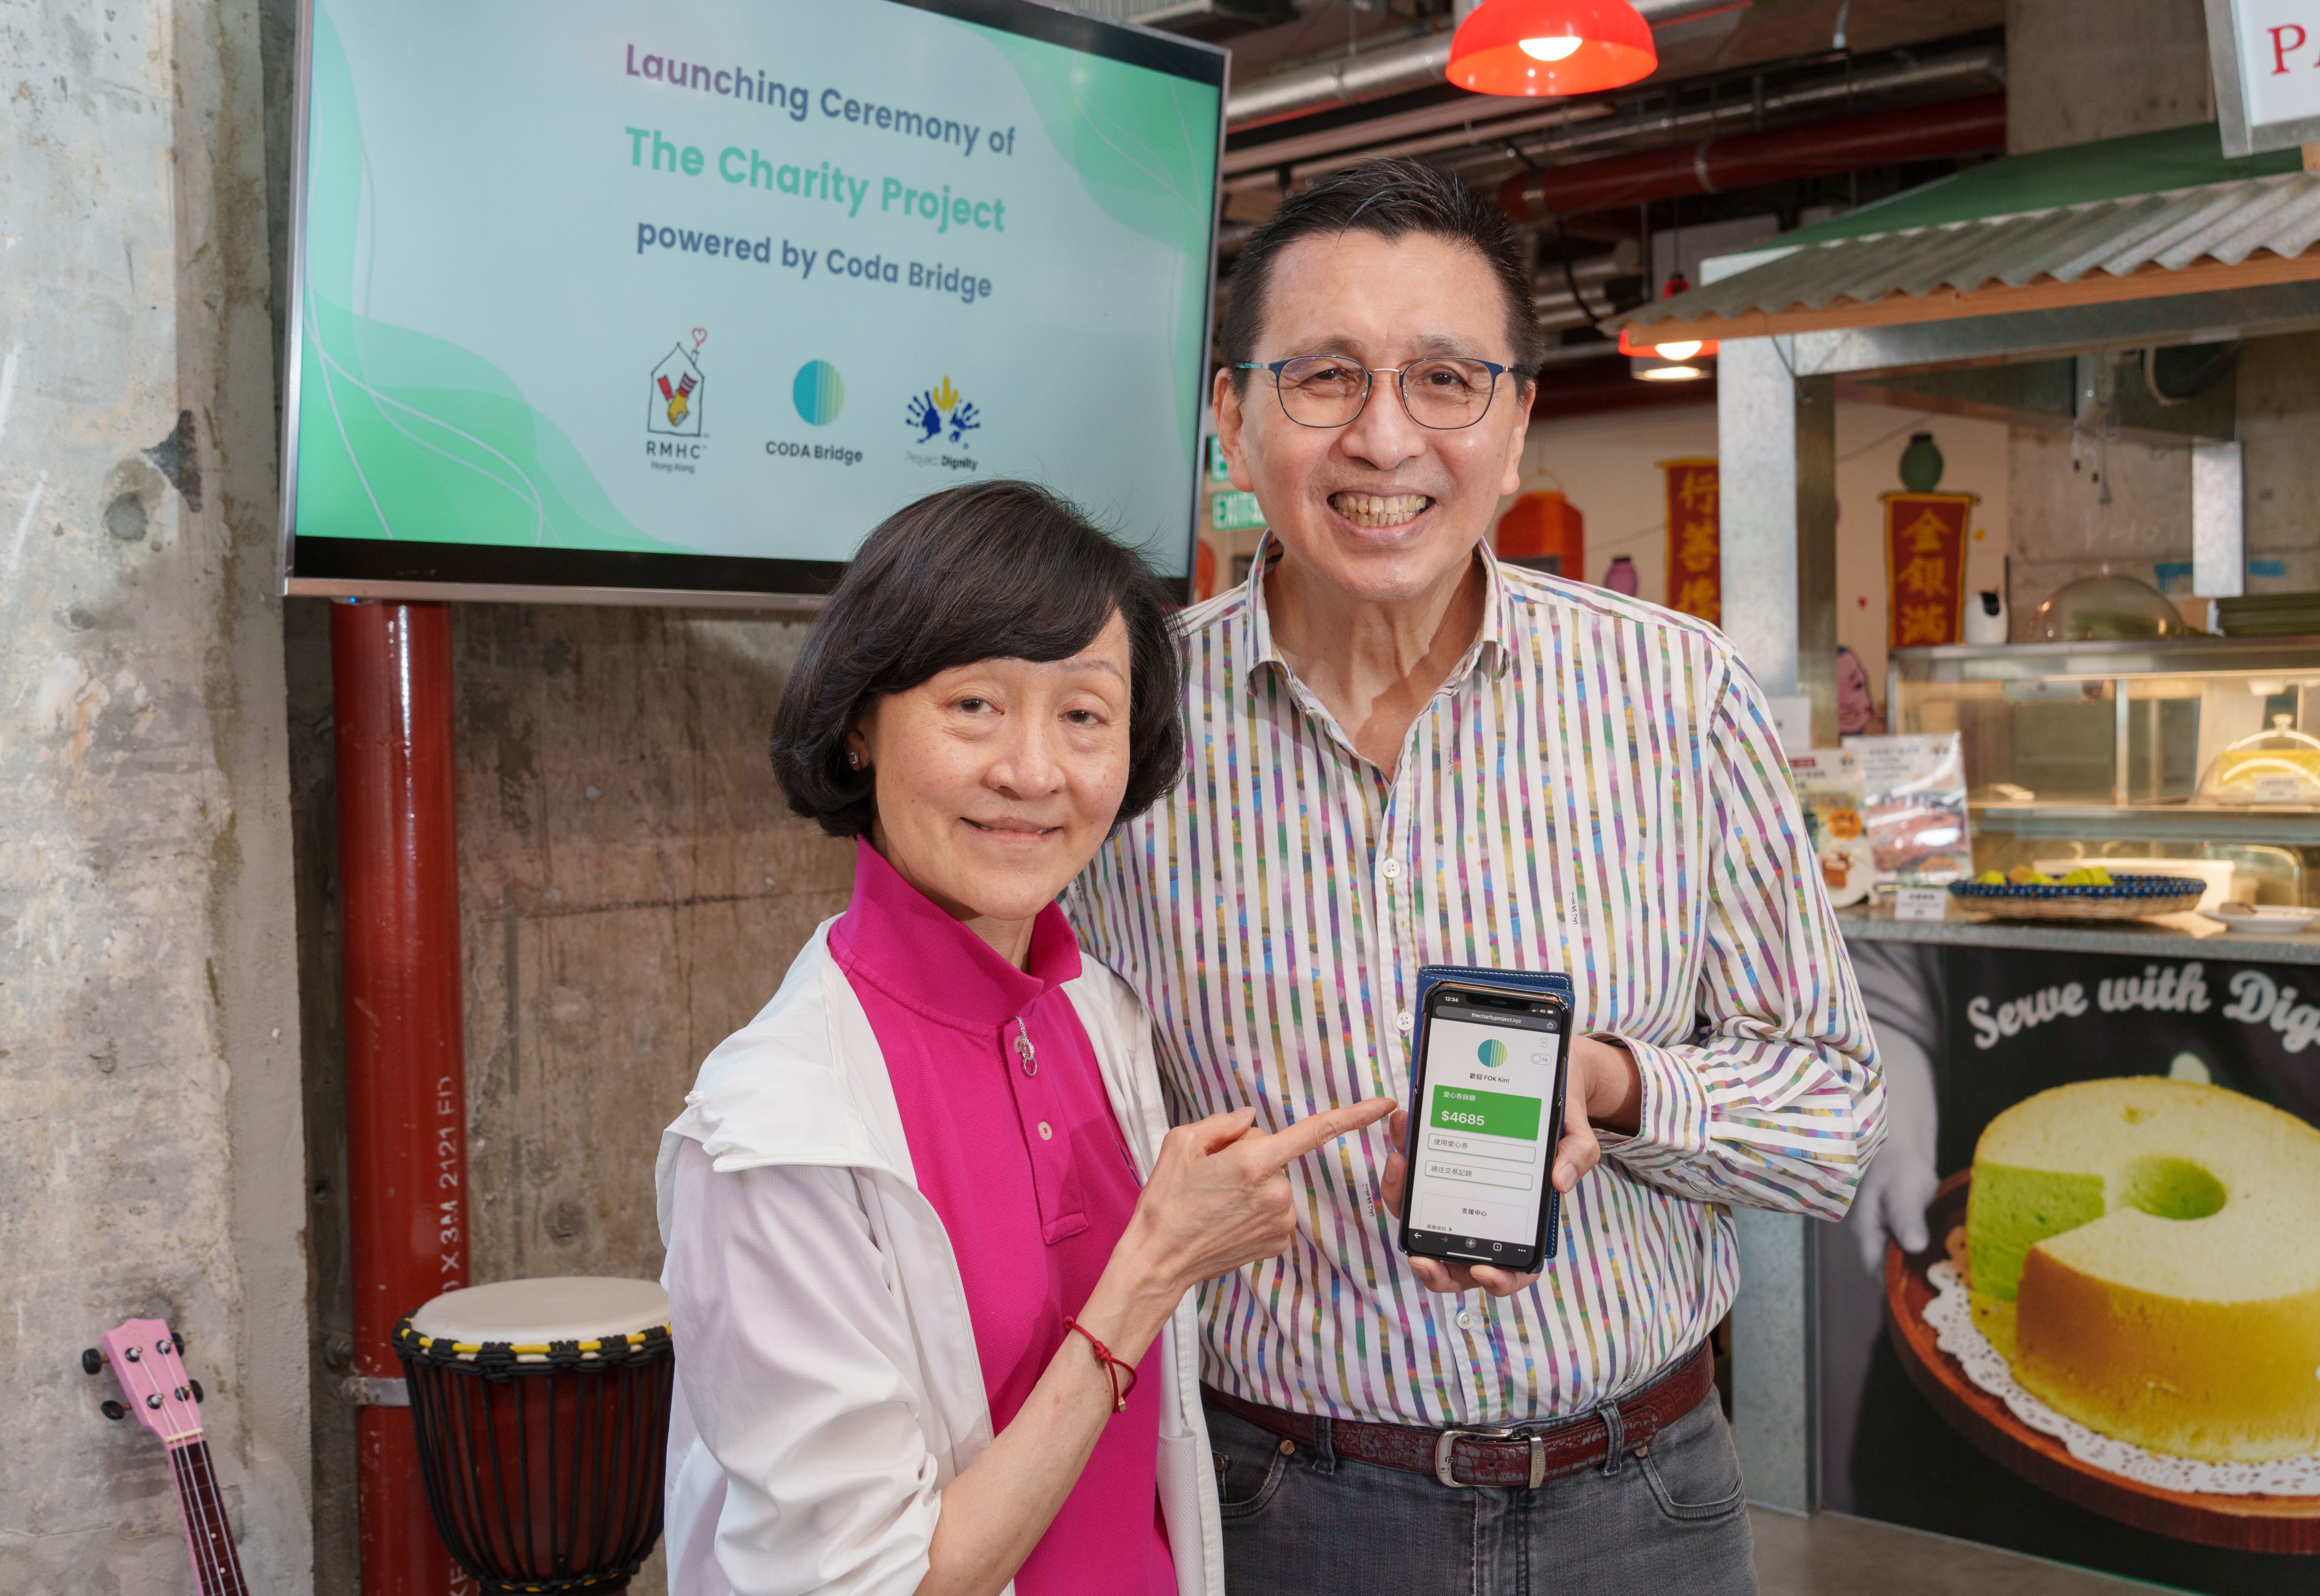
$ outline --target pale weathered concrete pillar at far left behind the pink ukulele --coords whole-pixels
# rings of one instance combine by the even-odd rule
[[[7,0],[0,1591],[190,1589],[79,1350],[167,1318],[253,1589],[311,1587],[258,12]]]

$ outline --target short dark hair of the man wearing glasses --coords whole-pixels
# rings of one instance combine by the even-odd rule
[[[1227,367],[1257,357],[1264,299],[1281,251],[1318,232],[1373,232],[1380,239],[1424,234],[1464,244],[1499,278],[1515,371],[1524,383],[1538,376],[1547,341],[1531,309],[1531,257],[1522,234],[1496,204],[1420,160],[1364,160],[1332,172],[1302,195],[1283,200],[1271,220],[1248,234],[1232,267],[1232,306],[1218,336],[1218,355]],[[1302,350],[1281,350],[1295,353]],[[1246,387],[1246,371],[1232,373],[1239,387]]]

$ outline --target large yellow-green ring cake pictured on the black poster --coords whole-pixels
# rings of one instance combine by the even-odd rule
[[[1977,1320],[2058,1413],[2206,1461],[2320,1450],[2304,1120],[2165,1076],[2039,1093],[1981,1132],[1965,1250]]]

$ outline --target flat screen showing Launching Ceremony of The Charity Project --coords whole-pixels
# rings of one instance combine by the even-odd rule
[[[1035,0],[311,0],[292,594],[754,603],[1018,476],[1190,566],[1223,51]]]

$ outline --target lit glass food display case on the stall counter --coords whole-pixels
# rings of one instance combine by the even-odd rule
[[[1895,650],[1888,724],[1956,731],[1974,870],[2197,858],[2320,902],[2320,638]]]

